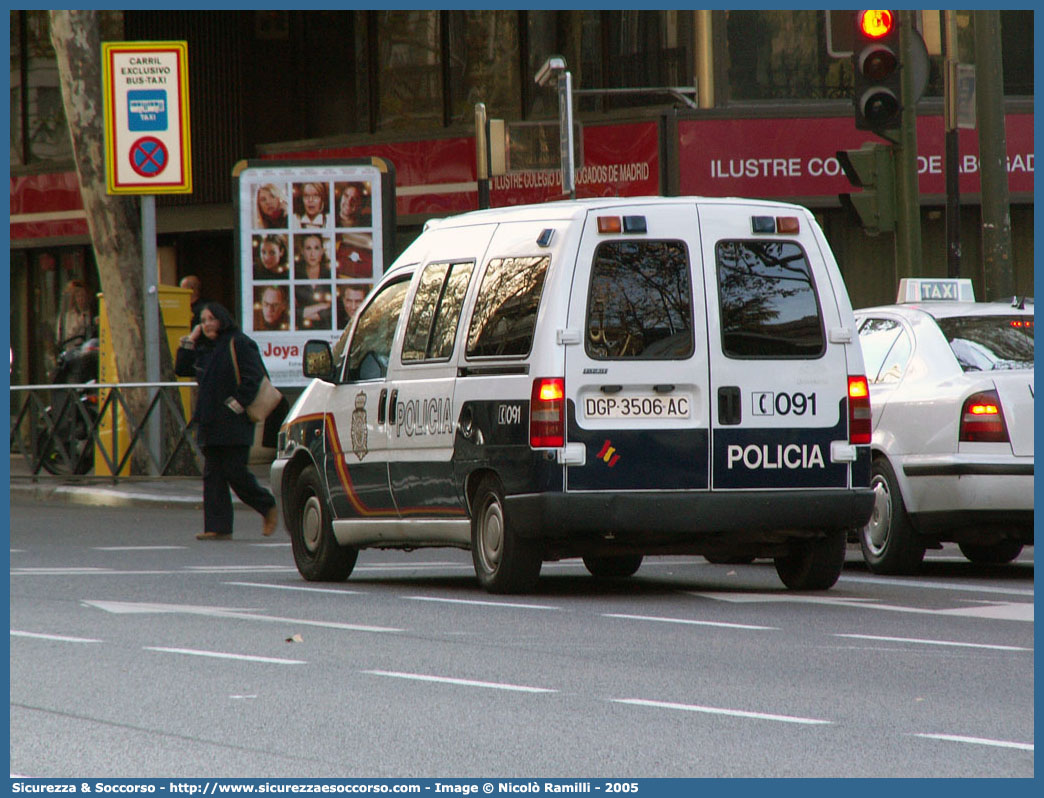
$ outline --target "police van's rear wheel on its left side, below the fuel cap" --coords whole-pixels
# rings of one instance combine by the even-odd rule
[[[482,478],[472,508],[471,559],[479,584],[491,593],[532,590],[540,579],[541,551],[512,523],[496,477]]]

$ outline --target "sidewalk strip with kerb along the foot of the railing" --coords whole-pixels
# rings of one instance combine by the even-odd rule
[[[268,488],[268,463],[252,463],[251,471],[261,486]],[[93,507],[181,507],[203,509],[203,477],[200,476],[134,476],[121,477],[116,484],[103,477],[66,478],[41,472],[29,473],[28,464],[20,454],[10,455],[10,495],[37,501],[64,501]],[[241,504],[233,493],[232,500]]]

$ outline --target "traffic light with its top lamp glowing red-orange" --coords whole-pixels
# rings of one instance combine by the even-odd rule
[[[898,11],[855,13],[852,101],[857,130],[881,134],[899,127],[903,114],[899,53]]]

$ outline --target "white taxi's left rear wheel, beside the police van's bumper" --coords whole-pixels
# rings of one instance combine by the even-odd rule
[[[874,512],[859,532],[862,559],[874,573],[914,573],[924,559],[924,542],[906,514],[892,465],[876,457],[871,470]]]

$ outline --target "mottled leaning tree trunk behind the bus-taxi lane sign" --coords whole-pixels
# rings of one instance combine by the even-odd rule
[[[50,11],[51,42],[57,57],[62,100],[76,158],[79,191],[105,298],[116,371],[120,382],[145,382],[140,203],[136,196],[110,195],[105,187],[105,116],[99,24],[99,16],[104,13]],[[165,342],[162,319],[160,324],[160,341]],[[174,379],[173,360],[165,346],[160,347],[160,375],[163,381]],[[148,407],[147,392],[126,391],[123,396],[140,422]],[[164,417],[168,415],[163,414]],[[164,451],[171,450],[176,436],[176,423],[168,419],[163,428]],[[182,452],[182,455],[173,472],[195,472],[191,452]],[[145,446],[139,444],[132,459],[132,471],[143,474],[148,470]]]

